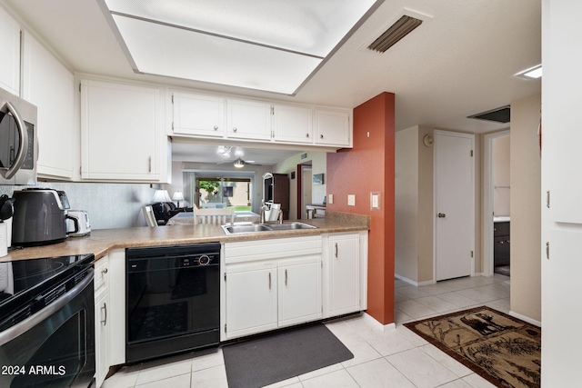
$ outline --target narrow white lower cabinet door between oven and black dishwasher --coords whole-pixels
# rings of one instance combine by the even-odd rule
[[[100,387],[109,372],[109,324],[107,306],[109,290],[102,287],[95,293],[95,386]]]

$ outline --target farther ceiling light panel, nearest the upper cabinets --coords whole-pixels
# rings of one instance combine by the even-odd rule
[[[293,94],[321,59],[114,16],[141,73]]]

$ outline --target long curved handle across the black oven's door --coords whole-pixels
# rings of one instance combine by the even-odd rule
[[[50,303],[44,309],[40,310],[34,315],[29,316],[24,321],[16,323],[14,326],[0,333],[0,346],[4,345],[5,343],[9,343],[19,335],[26,333],[28,330],[35,327],[35,325],[43,322],[46,318],[50,317],[58,310],[65,307],[66,303],[71,302],[80,293],[83,293],[85,288],[91,285],[93,282],[93,277],[94,269],[91,268],[87,271],[87,275],[83,278],[83,280],[76,284],[75,287],[71,288],[68,293],[65,293],[65,295],[58,298],[55,302]]]

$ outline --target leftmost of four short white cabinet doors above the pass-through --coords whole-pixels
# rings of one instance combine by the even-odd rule
[[[223,137],[225,134],[225,99],[211,95],[174,93],[175,134]]]

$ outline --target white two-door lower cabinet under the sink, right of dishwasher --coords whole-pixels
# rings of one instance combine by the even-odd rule
[[[322,317],[321,236],[225,244],[223,340]]]

